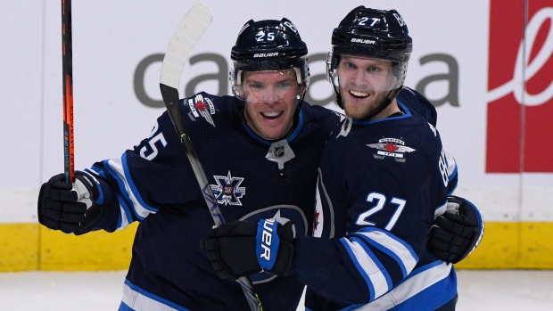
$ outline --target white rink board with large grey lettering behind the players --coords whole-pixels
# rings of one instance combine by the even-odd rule
[[[329,51],[332,30],[343,16],[364,3],[202,2],[210,5],[213,20],[191,56],[211,53],[224,61],[187,64],[181,94],[190,81],[206,74],[219,74],[222,84],[210,80],[194,91],[217,94],[219,89],[229,90],[230,48],[247,20],[286,17],[300,30],[310,55],[321,54]],[[77,169],[117,157],[149,135],[163,108],[148,107],[140,98],[161,101],[161,62],[145,67],[143,75],[137,75],[137,68],[150,56],[157,54],[159,59],[178,22],[194,4],[174,0],[73,2]],[[475,201],[488,221],[552,221],[553,213],[543,206],[541,197],[553,191],[553,174],[486,173],[489,2],[397,0],[391,4],[380,0],[370,5],[398,10],[409,26],[414,52],[407,86],[448,72],[443,61],[421,64],[429,56],[448,55],[458,66],[459,106],[445,103],[437,108],[442,141],[458,161],[457,193]],[[2,11],[0,223],[34,222],[40,184],[63,170],[61,3],[9,2]],[[310,65],[310,96],[318,101],[333,96],[332,87],[317,79],[324,75],[323,63]],[[449,87],[441,82],[430,84],[425,95],[439,99],[450,92]],[[327,107],[336,108],[334,103]]]

